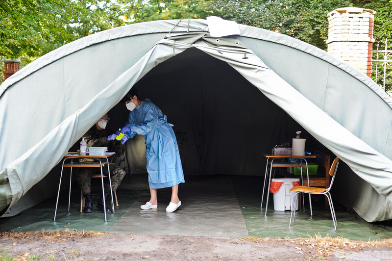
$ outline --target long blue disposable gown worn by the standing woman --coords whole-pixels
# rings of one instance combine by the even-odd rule
[[[164,188],[184,183],[180,154],[172,125],[166,115],[146,99],[129,113],[128,123],[131,131],[128,138],[135,134],[146,139],[146,158],[148,184],[150,188]]]

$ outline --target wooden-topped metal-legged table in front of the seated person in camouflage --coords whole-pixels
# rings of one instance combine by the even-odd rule
[[[60,182],[59,182],[59,185],[58,185],[56,209],[54,210],[53,221],[56,221],[58,199],[59,199],[59,196],[60,196],[60,187],[61,187],[61,180],[62,180],[62,177],[63,177],[63,170],[64,170],[64,168],[71,168],[70,192],[69,192],[69,198],[68,198],[68,213],[70,212],[70,201],[71,201],[72,168],[100,168],[100,171],[101,171],[101,181],[102,181],[102,195],[105,195],[105,189],[104,189],[104,185],[103,185],[103,178],[104,178],[104,176],[103,176],[102,167],[107,166],[108,178],[109,178],[109,184],[110,184],[110,194],[111,194],[111,198],[112,198],[112,207],[114,206],[113,191],[112,191],[112,181],[110,180],[110,169],[109,169],[109,158],[113,157],[114,155],[116,155],[116,153],[114,153],[114,152],[106,152],[104,156],[90,156],[89,154],[78,155],[76,153],[69,152],[67,155],[64,156],[63,164],[62,164],[62,168],[61,168],[61,174],[60,174]],[[95,158],[95,159],[98,159],[99,162],[98,161],[79,162],[80,158]],[[71,162],[65,163],[65,161],[67,159],[68,160],[71,159]],[[103,207],[104,207],[104,209],[106,209],[105,200],[103,201]],[[105,216],[105,222],[107,222],[106,211],[103,211],[103,213],[104,213],[104,216]],[[113,208],[113,213],[115,213],[114,212],[114,208]]]

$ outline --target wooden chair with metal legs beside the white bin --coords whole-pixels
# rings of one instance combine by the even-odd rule
[[[332,221],[334,223],[334,227],[336,230],[336,214],[335,214],[335,209],[334,209],[334,205],[332,203],[332,197],[331,194],[329,193],[329,191],[331,190],[332,184],[334,183],[335,180],[335,174],[336,171],[338,170],[338,165],[339,165],[339,157],[336,157],[334,159],[334,161],[332,162],[331,168],[329,170],[329,175],[332,176],[331,179],[331,183],[329,184],[328,188],[322,188],[322,187],[312,187],[312,186],[295,186],[292,189],[290,189],[289,192],[296,192],[294,195],[294,206],[292,206],[292,210],[291,210],[291,215],[290,215],[290,223],[289,223],[289,227],[291,226],[291,221],[295,219],[295,209],[296,209],[296,205],[298,204],[298,194],[299,193],[308,193],[310,194],[323,194],[326,196],[326,198],[328,199],[328,203],[329,203],[329,209],[331,210],[331,215],[332,215]],[[310,179],[309,179],[310,180]],[[293,215],[294,212],[294,215]],[[313,215],[312,210],[311,210],[311,216]]]

